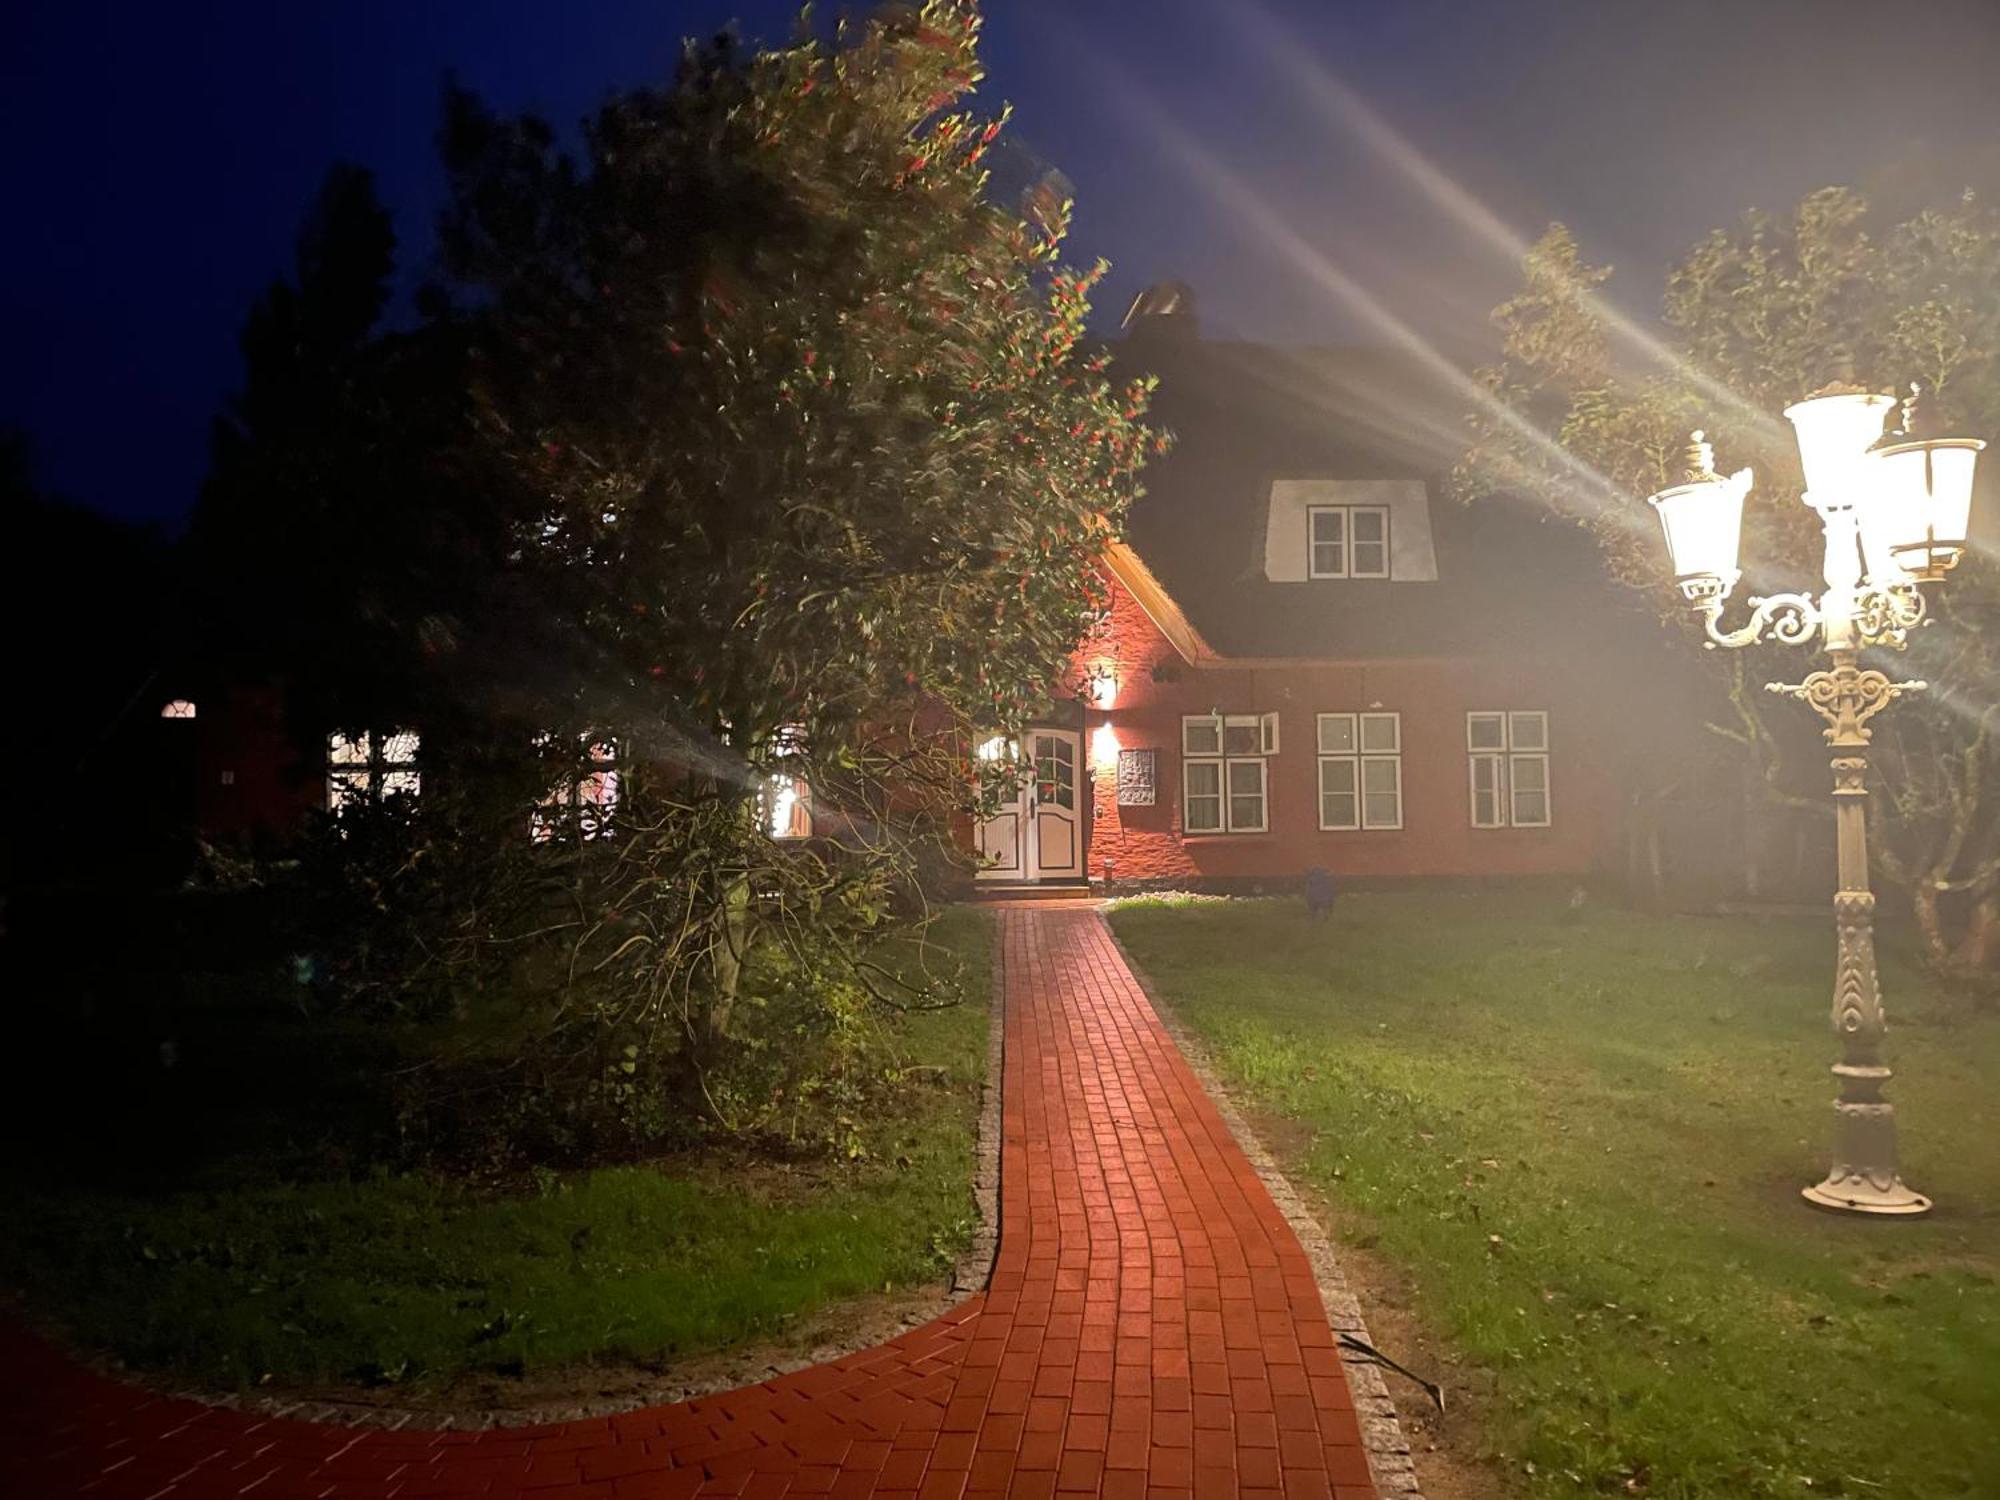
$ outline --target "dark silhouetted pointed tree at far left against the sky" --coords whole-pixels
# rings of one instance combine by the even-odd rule
[[[462,330],[388,322],[396,236],[372,176],[336,164],[290,276],[244,320],[190,524],[202,654],[276,678],[298,736],[406,722],[434,658],[504,564],[504,490],[466,454]]]

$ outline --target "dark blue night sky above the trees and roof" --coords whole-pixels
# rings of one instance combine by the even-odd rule
[[[238,378],[236,328],[330,160],[378,172],[414,282],[446,70],[568,124],[662,78],[684,32],[736,16],[772,36],[792,12],[8,6],[0,424],[34,436],[48,486],[178,520]],[[1454,190],[1520,234],[1568,220],[1650,310],[1668,260],[1750,204],[1940,160],[2000,186],[2000,0],[994,0],[988,74],[1018,138],[1076,184],[1076,258],[1114,262],[1100,312],[1180,276],[1206,330],[1250,338],[1380,338],[1366,296],[1474,352],[1514,266]]]

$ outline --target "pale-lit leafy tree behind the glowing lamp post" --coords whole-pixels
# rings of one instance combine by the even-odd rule
[[[1756,468],[1750,592],[1810,588],[1820,570],[1786,404],[1830,380],[1920,380],[1956,426],[2000,434],[2000,214],[1970,192],[1880,224],[1856,192],[1828,188],[1788,216],[1714,230],[1672,270],[1664,316],[1642,338],[1618,326],[1598,292],[1608,270],[1586,264],[1562,226],[1524,270],[1522,292],[1496,310],[1494,404],[1474,416],[1462,490],[1556,496],[1612,572],[1664,612],[1676,596],[1644,496],[1680,482],[1690,428],[1706,428],[1728,466]],[[1934,600],[1938,622],[1884,662],[1934,690],[1874,720],[1876,854],[1932,962],[1984,968],[2000,958],[2000,642],[1988,630],[2000,582],[1976,554]],[[1800,676],[1798,654],[1712,660],[1724,704],[1712,728],[1744,748],[1772,802],[1824,810],[1816,724],[1760,690]]]

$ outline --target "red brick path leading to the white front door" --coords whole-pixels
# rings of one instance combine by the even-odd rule
[[[1372,1500],[1312,1268],[1088,910],[998,914],[992,1284],[892,1344],[676,1406],[486,1432],[148,1396],[0,1334],[0,1494]]]

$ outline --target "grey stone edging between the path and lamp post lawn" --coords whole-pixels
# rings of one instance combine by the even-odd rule
[[[1132,956],[1132,950],[1118,938],[1118,930],[1110,924],[1102,906],[1098,908],[1098,920],[1104,924],[1106,934],[1110,934],[1112,946],[1124,958],[1126,968],[1132,970],[1132,978],[1138,980],[1138,988],[1160,1018],[1160,1026],[1174,1038],[1174,1046],[1188,1060],[1190,1072],[1194,1072],[1196,1080],[1208,1092],[1208,1098],[1214,1100],[1222,1124],[1230,1128],[1236,1146],[1250,1158],[1250,1166],[1256,1168],[1272,1202],[1278,1204],[1284,1222],[1292,1226],[1292,1234],[1304,1246],[1306,1258],[1312,1262],[1312,1276],[1320,1284],[1320,1302],[1326,1306],[1326,1320],[1334,1326],[1336,1334],[1352,1334],[1364,1344],[1372,1344],[1374,1340],[1368,1336],[1368,1322],[1362,1318],[1360,1302],[1354,1296],[1354,1288],[1348,1286],[1346,1274],[1340,1270],[1340,1256],[1326,1238],[1326,1230],[1320,1228],[1320,1220],[1306,1208],[1306,1200],[1278,1168],[1264,1142],[1258,1140],[1250,1122],[1236,1110],[1228,1088],[1214,1070],[1208,1044],[1188,1030],[1178,1012],[1160,998],[1152,976],[1146,974]],[[1362,1426],[1362,1448],[1368,1452],[1368,1470],[1374,1474],[1376,1490],[1382,1496],[1394,1496],[1394,1500],[1424,1500],[1416,1478],[1416,1460],[1410,1456],[1410,1440],[1402,1432],[1402,1422],[1396,1420],[1396,1398],[1390,1394],[1380,1366],[1348,1348],[1340,1350],[1340,1362],[1354,1392],[1354,1408]]]

